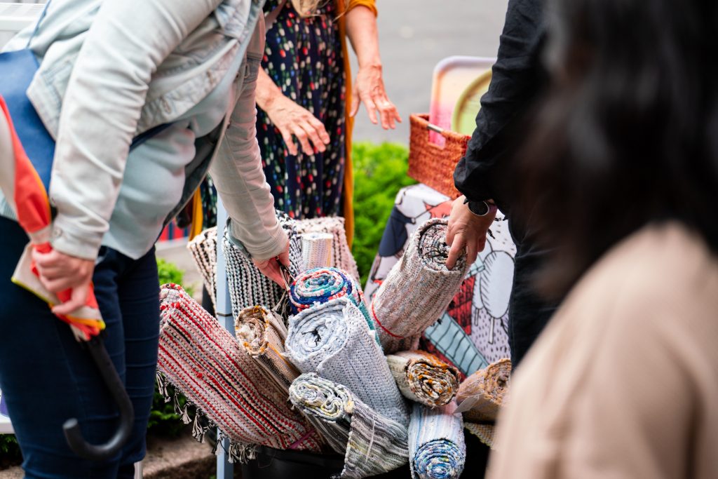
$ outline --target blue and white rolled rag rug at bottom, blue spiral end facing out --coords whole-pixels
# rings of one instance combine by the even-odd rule
[[[429,409],[414,404],[409,423],[409,465],[414,479],[458,478],[466,462],[464,427],[456,404]]]

